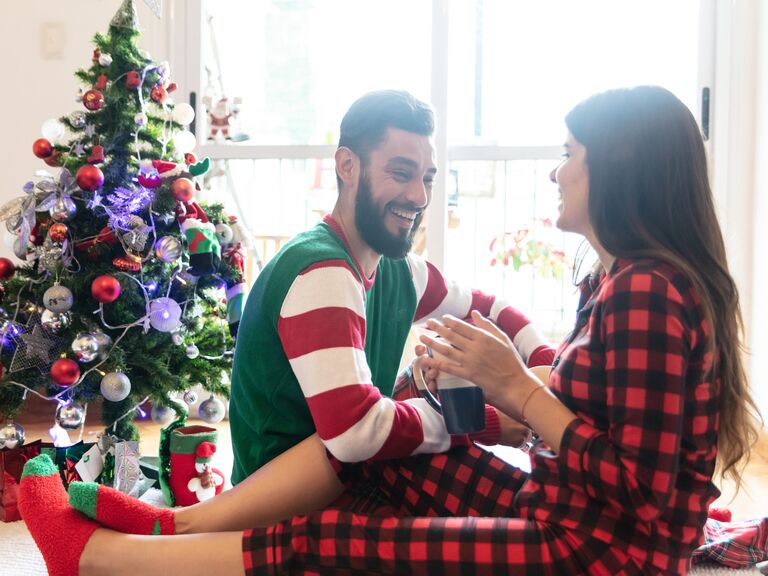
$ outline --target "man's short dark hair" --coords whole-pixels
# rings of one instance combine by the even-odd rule
[[[377,90],[361,96],[341,121],[339,147],[357,154],[365,166],[368,154],[384,141],[388,128],[432,136],[435,114],[429,104],[404,90]],[[341,181],[337,177],[339,187]]]

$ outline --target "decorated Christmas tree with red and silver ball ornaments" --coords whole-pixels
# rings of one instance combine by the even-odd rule
[[[29,394],[69,429],[102,402],[105,426],[125,439],[147,400],[160,420],[184,408],[176,393],[194,403],[196,384],[228,395],[242,231],[223,206],[196,200],[210,162],[192,152],[194,110],[173,103],[169,66],[138,35],[125,0],[76,72],[78,109],[33,144],[55,173],[0,208],[22,261],[0,259],[0,447],[19,441],[12,418]],[[224,406],[212,397],[201,410],[211,422]]]

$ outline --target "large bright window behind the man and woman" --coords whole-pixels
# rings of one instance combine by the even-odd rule
[[[202,55],[198,101],[227,96],[229,139],[201,155],[259,242],[259,257],[308,228],[336,198],[333,151],[349,104],[404,88],[438,113],[440,175],[428,257],[447,276],[509,297],[557,338],[573,319],[570,270],[491,265],[505,232],[556,216],[549,172],[563,117],[594,92],[643,83],[675,92],[698,116],[713,5],[699,0],[230,0],[188,3]],[[196,16],[195,16],[196,15]],[[702,56],[705,54],[705,56]],[[704,71],[704,73],[702,73]],[[573,260],[579,238],[546,232]],[[498,245],[496,245],[498,247]]]

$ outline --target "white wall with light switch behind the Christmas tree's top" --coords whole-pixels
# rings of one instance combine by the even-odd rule
[[[82,104],[75,102],[81,87],[74,73],[91,65],[93,36],[106,33],[120,0],[28,0],[3,2],[0,17],[0,54],[5,63],[0,110],[6,126],[0,143],[0,203],[20,194],[35,171],[47,169],[32,154],[40,138],[40,126]],[[155,61],[168,58],[170,27],[167,18],[157,19],[141,0],[139,45]],[[165,4],[168,4],[166,0]],[[45,54],[44,51],[48,51]],[[173,73],[173,65],[171,65]],[[0,254],[12,254],[6,245],[5,226],[0,228]]]

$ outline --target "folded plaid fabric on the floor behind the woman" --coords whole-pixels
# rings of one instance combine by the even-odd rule
[[[768,560],[768,518],[746,522],[719,522],[710,518],[704,526],[704,544],[693,552],[694,564],[717,562],[744,568]]]

